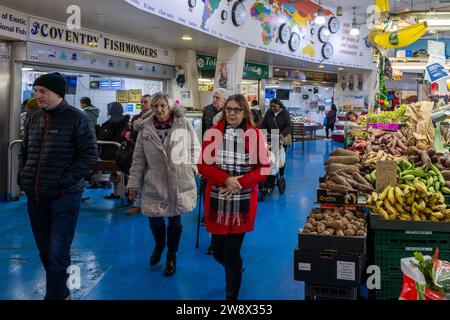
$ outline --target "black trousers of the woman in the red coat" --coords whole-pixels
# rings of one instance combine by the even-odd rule
[[[211,246],[217,262],[225,268],[226,299],[237,300],[242,280],[241,247],[245,233],[213,234]]]

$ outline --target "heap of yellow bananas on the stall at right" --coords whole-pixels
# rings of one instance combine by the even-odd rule
[[[386,220],[450,222],[444,195],[429,192],[421,181],[387,186],[380,194],[373,192],[367,204]]]

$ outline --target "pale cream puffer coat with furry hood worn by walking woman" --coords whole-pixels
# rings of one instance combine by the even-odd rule
[[[151,217],[171,217],[192,211],[197,202],[197,160],[200,143],[184,111],[175,106],[174,122],[164,142],[148,112],[134,125],[140,130],[128,180],[129,190],[142,190],[142,213]]]

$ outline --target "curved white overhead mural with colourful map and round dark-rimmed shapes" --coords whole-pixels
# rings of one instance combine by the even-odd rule
[[[247,48],[306,61],[373,69],[368,30],[350,35],[352,12],[337,17],[311,0],[125,0],[147,12]],[[172,3],[173,4],[173,3]],[[315,23],[319,9],[326,22]],[[255,30],[258,30],[255,36]]]

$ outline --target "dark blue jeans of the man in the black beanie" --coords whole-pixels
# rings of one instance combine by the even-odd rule
[[[81,192],[60,198],[28,198],[28,215],[34,239],[46,273],[46,300],[64,300],[70,294],[67,288],[72,245]]]

